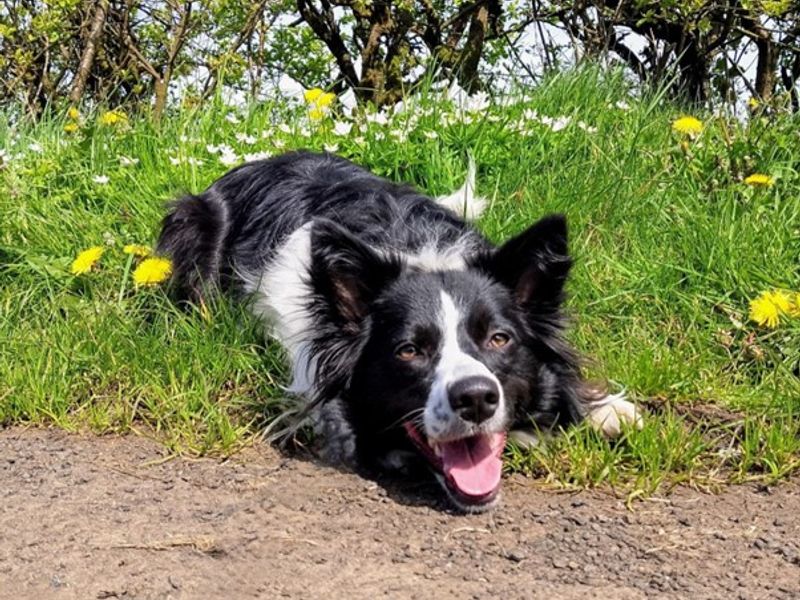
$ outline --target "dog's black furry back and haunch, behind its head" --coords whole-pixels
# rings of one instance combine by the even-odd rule
[[[453,211],[409,186],[331,154],[292,152],[242,165],[202,194],[178,200],[164,219],[158,252],[173,260],[178,294],[197,300],[209,286],[252,278],[315,219],[421,265],[485,246]]]

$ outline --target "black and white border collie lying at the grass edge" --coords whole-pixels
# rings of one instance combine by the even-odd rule
[[[499,248],[476,217],[474,168],[433,200],[330,154],[233,169],[178,201],[158,251],[175,289],[243,293],[292,363],[333,462],[425,459],[456,505],[495,503],[509,432],[535,440],[585,417],[638,422],[622,395],[581,381],[562,338],[570,270],[563,216]]]

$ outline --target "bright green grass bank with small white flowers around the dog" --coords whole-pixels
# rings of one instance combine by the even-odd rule
[[[67,133],[61,114],[0,120],[0,424],[138,431],[175,452],[235,451],[284,406],[280,349],[235,304],[221,300],[204,318],[159,288],[136,289],[122,245],[152,244],[169,199],[227,170],[209,144],[239,157],[335,145],[431,194],[460,185],[471,153],[492,199],[480,221],[490,238],[568,215],[570,336],[592,358],[587,375],[657,406],[617,442],[581,427],[534,452],[512,448],[509,469],[632,497],[797,471],[800,319],[761,328],[748,302],[800,288],[800,119],[696,115],[705,128],[689,139],[671,130],[680,107],[658,93],[633,97],[621,76],[595,70],[516,100],[464,122],[428,92],[389,125],[347,135],[333,131],[333,116],[307,124],[302,106],[237,111],[219,101],[158,126],[85,114]],[[572,121],[553,131],[531,109]],[[754,172],[775,184],[744,184]],[[99,269],[72,276],[75,255],[98,244],[107,248]],[[687,407],[698,405],[733,417],[697,419]]]

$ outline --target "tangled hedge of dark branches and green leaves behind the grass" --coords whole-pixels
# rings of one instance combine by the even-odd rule
[[[631,43],[634,34],[643,48]],[[541,65],[532,63],[537,54]],[[0,103],[36,117],[68,101],[150,104],[158,119],[171,98],[261,100],[287,77],[350,90],[362,105],[391,105],[425,82],[500,91],[585,57],[621,60],[642,85],[671,82],[673,96],[695,104],[735,103],[744,86],[762,108],[800,110],[800,10],[788,0],[0,5]]]

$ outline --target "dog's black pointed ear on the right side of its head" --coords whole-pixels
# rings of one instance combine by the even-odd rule
[[[564,215],[544,217],[489,255],[478,268],[514,292],[516,301],[535,311],[557,310],[572,259]]]

